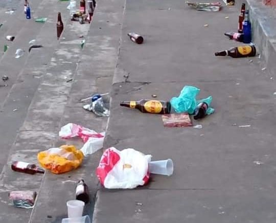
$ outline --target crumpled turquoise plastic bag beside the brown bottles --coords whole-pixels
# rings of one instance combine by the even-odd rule
[[[213,100],[212,96],[204,98],[201,100],[196,100],[196,96],[200,92],[200,89],[194,86],[184,86],[180,95],[178,97],[173,97],[171,99],[171,105],[174,108],[176,113],[189,113],[190,115],[194,114],[196,106],[205,102],[208,104],[208,109],[206,111],[207,115],[214,113],[215,109],[210,107],[210,104]]]

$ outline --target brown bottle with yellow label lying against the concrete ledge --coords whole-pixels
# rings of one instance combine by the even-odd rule
[[[216,52],[215,56],[231,56],[234,58],[254,57],[254,56],[256,56],[256,48],[253,45],[244,45],[241,47],[233,47],[229,50]]]

